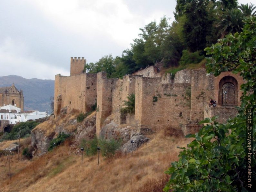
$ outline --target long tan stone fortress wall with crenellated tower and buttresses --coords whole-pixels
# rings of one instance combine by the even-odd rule
[[[206,69],[184,69],[175,74],[160,75],[155,66],[147,67],[123,79],[108,79],[105,72],[84,73],[86,60],[71,57],[71,75],[55,75],[54,115],[61,109],[78,109],[88,112],[97,102],[96,133],[99,135],[104,120],[113,115],[119,124],[153,130],[172,127],[184,134],[198,131],[199,121],[219,115],[224,122],[236,115],[234,105],[239,105],[240,86],[238,74],[223,72],[218,77],[207,75]],[[75,68],[77,67],[77,70]],[[227,90],[226,105],[223,100]],[[135,94],[135,113],[123,114],[123,101]],[[216,99],[217,107],[209,108],[210,99]],[[228,98],[228,99],[227,99]]]

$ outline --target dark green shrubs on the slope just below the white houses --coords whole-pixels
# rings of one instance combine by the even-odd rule
[[[3,135],[2,139],[10,139],[15,140],[19,137],[19,128],[20,131],[20,138],[28,137],[31,133],[31,130],[34,129],[39,123],[35,121],[26,121],[26,122],[20,122],[16,124],[10,133],[7,133]]]

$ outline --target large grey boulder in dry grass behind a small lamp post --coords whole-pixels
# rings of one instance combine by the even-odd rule
[[[131,144],[131,140],[134,141],[133,146]],[[123,153],[131,153],[132,152],[132,147],[133,151],[138,149],[143,143],[147,142],[149,139],[145,137],[144,135],[136,135],[133,136],[129,141],[127,141],[123,147],[122,147],[122,152]]]

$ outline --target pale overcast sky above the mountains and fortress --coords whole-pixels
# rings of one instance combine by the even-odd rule
[[[139,28],[163,15],[174,20],[175,5],[175,0],[1,0],[0,76],[54,79],[70,74],[70,57],[89,63],[121,55]]]

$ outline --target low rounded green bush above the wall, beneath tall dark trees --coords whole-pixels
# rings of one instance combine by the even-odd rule
[[[186,66],[187,64],[192,64],[192,63],[196,64],[201,62],[204,58],[205,57],[201,51],[196,51],[194,53],[191,53],[188,50],[183,50],[181,61],[179,62],[179,64],[181,66]]]

